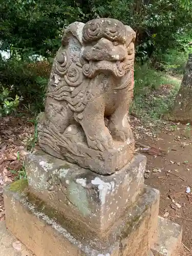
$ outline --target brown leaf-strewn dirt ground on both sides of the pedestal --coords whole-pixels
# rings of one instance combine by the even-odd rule
[[[2,188],[15,179],[22,167],[23,150],[34,127],[26,116],[2,118],[0,123],[0,221],[4,221]],[[161,131],[157,132],[154,124],[143,124],[136,117],[131,117],[131,125],[136,152],[147,157],[145,183],[161,193],[159,215],[183,226],[183,247],[177,256],[191,256],[192,129],[162,121]],[[191,188],[188,194],[187,187]]]

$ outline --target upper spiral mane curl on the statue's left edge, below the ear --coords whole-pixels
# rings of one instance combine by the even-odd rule
[[[67,51],[59,52],[56,56],[54,71],[56,74],[63,76],[67,73],[71,61]]]

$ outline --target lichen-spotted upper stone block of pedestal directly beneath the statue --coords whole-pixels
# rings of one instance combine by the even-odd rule
[[[25,165],[34,195],[69,219],[105,232],[142,192],[146,158],[137,155],[110,176],[93,173],[42,151],[28,154]]]

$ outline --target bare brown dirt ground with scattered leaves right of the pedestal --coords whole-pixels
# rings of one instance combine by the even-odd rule
[[[137,130],[134,118],[132,126]],[[145,184],[160,190],[159,215],[183,226],[183,248],[178,255],[191,256],[192,132],[189,126],[173,123],[163,123],[154,136],[151,129],[143,130],[141,136],[135,134],[136,151],[147,157]]]

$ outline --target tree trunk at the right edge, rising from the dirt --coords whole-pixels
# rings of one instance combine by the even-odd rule
[[[192,122],[192,54],[189,54],[181,88],[169,120],[182,123]]]

